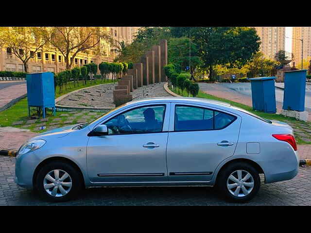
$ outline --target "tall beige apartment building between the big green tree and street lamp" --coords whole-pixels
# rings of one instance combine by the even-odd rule
[[[260,37],[260,51],[274,59],[276,52],[285,50],[285,27],[255,27]]]

